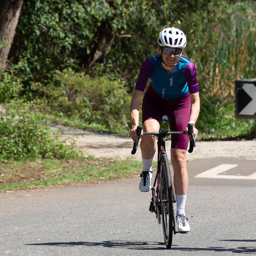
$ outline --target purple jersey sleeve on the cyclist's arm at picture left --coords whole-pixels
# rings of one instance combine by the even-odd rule
[[[140,73],[135,85],[135,89],[144,92],[148,78],[154,73],[153,64],[151,61],[146,60],[143,62]]]

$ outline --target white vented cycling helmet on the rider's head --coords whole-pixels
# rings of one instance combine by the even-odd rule
[[[158,45],[171,48],[184,49],[187,44],[185,34],[178,28],[168,27],[163,29],[158,36]]]

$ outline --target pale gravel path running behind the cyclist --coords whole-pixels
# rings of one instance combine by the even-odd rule
[[[76,141],[76,146],[85,152],[85,156],[96,158],[131,158],[141,159],[140,149],[131,155],[133,142],[129,136],[116,134],[92,133],[63,126],[51,126],[54,131],[61,130],[60,138]],[[171,141],[166,142],[170,148]],[[187,160],[203,158],[256,158],[256,139],[240,141],[196,141],[193,153],[187,153]],[[156,156],[154,158],[156,160]]]

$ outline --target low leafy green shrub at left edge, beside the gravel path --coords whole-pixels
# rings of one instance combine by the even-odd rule
[[[0,113],[0,159],[70,159],[80,154],[74,145],[65,146],[64,141],[53,138],[49,127],[36,111],[25,104],[9,104]]]

